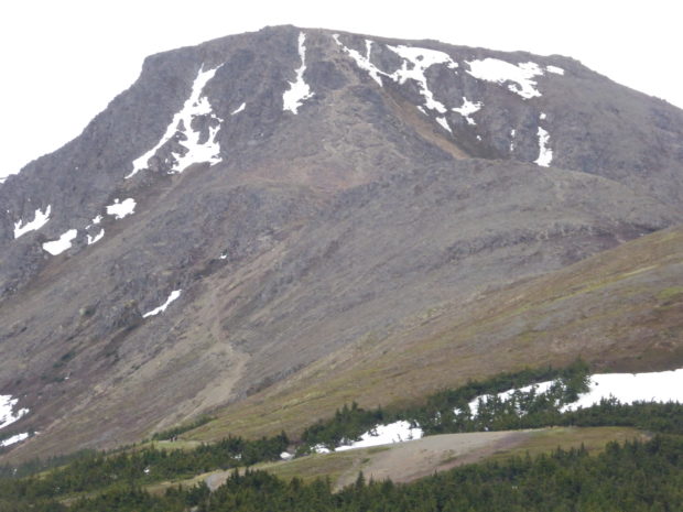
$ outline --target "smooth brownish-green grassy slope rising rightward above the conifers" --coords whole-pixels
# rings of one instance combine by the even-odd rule
[[[367,333],[184,437],[296,435],[345,402],[412,403],[469,379],[577,356],[599,371],[683,363],[683,227],[466,303],[436,304],[383,337]]]

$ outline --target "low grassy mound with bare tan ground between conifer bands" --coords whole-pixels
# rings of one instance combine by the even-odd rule
[[[264,462],[253,466],[284,480],[300,478],[312,482],[329,478],[334,489],[353,483],[359,471],[367,478],[394,482],[414,481],[421,477],[481,460],[505,460],[511,456],[549,454],[561,447],[599,453],[610,442],[644,440],[648,435],[630,427],[553,427],[533,431],[446,434],[394,445],[360,448],[326,455],[312,455],[290,461]],[[232,470],[210,471],[192,479],[165,481],[149,486],[150,492],[161,494],[181,484],[189,488],[206,481],[215,489]]]

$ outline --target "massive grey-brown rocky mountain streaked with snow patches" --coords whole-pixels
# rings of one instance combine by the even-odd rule
[[[679,364],[682,197],[683,111],[571,58],[293,26],[153,55],[0,185],[0,394],[39,432],[4,457],[247,432],[283,389],[301,423],[578,355]],[[647,286],[604,288],[612,261]]]

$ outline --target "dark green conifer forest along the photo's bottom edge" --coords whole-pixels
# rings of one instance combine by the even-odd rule
[[[0,499],[1,500],[1,499]],[[0,510],[26,510],[0,501]],[[34,502],[37,512],[675,512],[683,510],[683,439],[658,436],[642,442],[610,443],[590,456],[583,448],[551,455],[513,457],[470,465],[410,484],[356,482],[334,493],[328,480],[290,482],[263,471],[232,473],[215,492],[205,484],[171,488],[154,497],[139,487],[120,487],[65,505]]]

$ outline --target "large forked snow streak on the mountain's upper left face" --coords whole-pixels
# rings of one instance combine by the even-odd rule
[[[218,66],[220,67],[220,66]],[[221,161],[218,156],[220,153],[220,144],[216,142],[216,133],[220,128],[220,124],[217,127],[209,128],[209,137],[208,140],[204,143],[199,143],[199,132],[195,132],[192,128],[192,120],[197,116],[207,116],[210,115],[213,119],[223,122],[223,119],[218,118],[214,113],[212,113],[212,105],[208,101],[206,96],[202,96],[204,91],[204,87],[210,80],[218,67],[214,69],[204,70],[204,65],[199,68],[197,73],[197,77],[192,84],[192,92],[189,98],[183,105],[183,108],[180,112],[173,116],[173,120],[171,124],[166,128],[166,132],[163,134],[161,140],[156,143],[154,148],[144,153],[139,159],[133,161],[133,170],[130,174],[126,176],[126,179],[138,174],[139,171],[143,168],[148,168],[149,160],[156,154],[156,151],[164,145],[166,142],[171,140],[176,132],[181,132],[185,135],[185,140],[181,141],[181,145],[187,149],[187,152],[181,156],[177,153],[173,153],[173,156],[176,160],[176,164],[170,171],[170,173],[181,173],[188,165],[198,162],[209,162],[212,165],[217,164]]]

